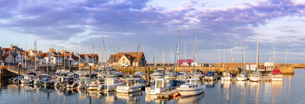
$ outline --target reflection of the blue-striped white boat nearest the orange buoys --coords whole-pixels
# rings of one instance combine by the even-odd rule
[[[195,95],[195,96],[189,96],[189,97],[179,97],[178,99],[178,103],[179,104],[202,104],[204,102],[202,102],[201,99],[203,99],[205,96],[205,92],[199,94],[199,95]]]

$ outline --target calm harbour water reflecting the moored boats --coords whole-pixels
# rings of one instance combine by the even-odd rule
[[[295,69],[294,75],[284,75],[283,81],[251,82],[251,81],[203,81],[206,90],[203,94],[158,100],[156,96],[145,95],[145,91],[130,94],[115,92],[98,93],[84,90],[66,90],[60,88],[41,88],[30,84],[7,84],[1,81],[0,103],[104,103],[104,104],[275,104],[305,103],[305,69]]]

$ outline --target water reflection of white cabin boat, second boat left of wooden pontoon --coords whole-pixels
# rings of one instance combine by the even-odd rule
[[[140,103],[140,96],[143,95],[143,93],[145,93],[145,91],[136,91],[136,92],[132,92],[132,93],[116,93],[117,98],[119,100],[123,100],[126,103],[130,103],[130,104],[135,104],[135,103]]]

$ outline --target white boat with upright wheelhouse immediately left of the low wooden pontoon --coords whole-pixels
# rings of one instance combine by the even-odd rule
[[[154,86],[149,86],[145,88],[146,95],[155,95],[160,92],[164,92],[170,89],[170,84],[167,83],[167,79],[160,78],[155,80]]]

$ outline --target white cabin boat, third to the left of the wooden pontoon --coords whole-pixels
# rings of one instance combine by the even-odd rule
[[[117,86],[124,85],[122,81],[117,78],[105,78],[104,84],[99,84],[98,91],[114,91]]]

